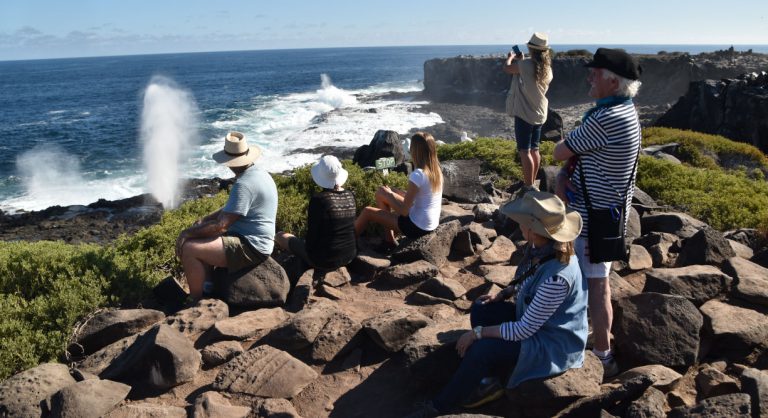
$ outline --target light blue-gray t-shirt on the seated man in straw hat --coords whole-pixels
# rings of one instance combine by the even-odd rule
[[[272,254],[277,217],[277,186],[266,171],[253,166],[232,186],[224,212],[242,215],[228,233],[242,235],[262,254]]]

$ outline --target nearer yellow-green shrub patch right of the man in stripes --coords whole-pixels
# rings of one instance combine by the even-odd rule
[[[677,207],[716,229],[768,228],[768,183],[744,173],[643,157],[637,184],[659,203]]]

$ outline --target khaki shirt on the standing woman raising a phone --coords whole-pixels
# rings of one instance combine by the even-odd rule
[[[536,82],[536,63],[532,59],[517,61],[519,74],[512,76],[507,93],[507,114],[530,123],[542,125],[547,120],[547,90],[552,81],[550,70],[543,84]]]

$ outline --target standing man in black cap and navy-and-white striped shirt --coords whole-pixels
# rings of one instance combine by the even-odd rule
[[[640,120],[632,98],[640,88],[642,68],[623,50],[608,48],[598,48],[586,67],[589,95],[596,103],[582,118],[583,123],[555,145],[555,159],[570,162],[557,175],[556,192],[584,218],[576,254],[589,282],[593,351],[603,362],[605,377],[610,377],[619,372],[610,345],[613,311],[608,275],[612,263],[600,261],[606,257],[601,258],[597,251],[590,254],[588,237],[595,225],[611,219],[592,219],[588,207],[620,214],[629,213],[631,208],[641,140]],[[572,193],[571,201],[566,198],[567,190]],[[624,216],[625,227],[626,220]]]

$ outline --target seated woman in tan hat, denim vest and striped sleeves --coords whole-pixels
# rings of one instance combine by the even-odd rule
[[[435,416],[455,404],[473,408],[506,387],[579,368],[587,342],[587,283],[574,255],[581,216],[555,195],[531,191],[501,212],[528,241],[512,283],[472,305],[472,331],[456,343],[461,365],[448,385],[411,416]],[[515,303],[506,301],[515,295]],[[510,375],[511,373],[511,375]]]

